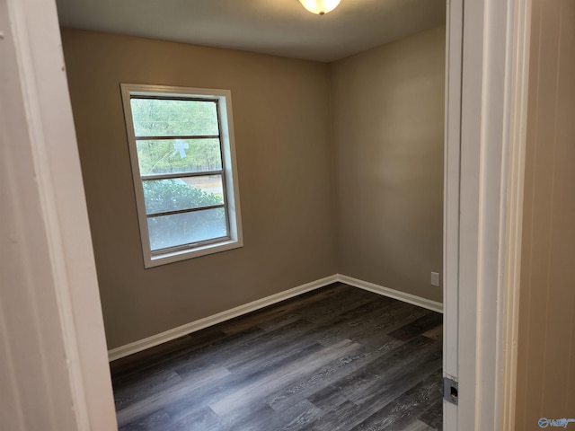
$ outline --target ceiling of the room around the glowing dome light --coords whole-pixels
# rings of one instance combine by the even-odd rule
[[[445,23],[446,0],[57,0],[60,24],[157,40],[333,61]]]

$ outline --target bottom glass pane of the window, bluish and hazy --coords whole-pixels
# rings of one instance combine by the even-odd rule
[[[224,208],[213,208],[147,220],[152,251],[227,236]]]

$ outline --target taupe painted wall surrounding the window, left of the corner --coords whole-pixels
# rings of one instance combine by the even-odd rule
[[[62,32],[108,347],[337,272],[328,67]],[[144,269],[119,84],[232,91],[244,247]]]

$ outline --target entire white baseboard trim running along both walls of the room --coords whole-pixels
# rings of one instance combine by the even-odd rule
[[[257,301],[253,301],[252,303],[246,303],[244,305],[240,305],[239,307],[232,308],[231,310],[227,310],[226,312],[218,312],[217,314],[205,317],[204,319],[199,319],[199,321],[192,321],[190,323],[186,323],[185,325],[173,328],[172,330],[166,330],[164,332],[153,335],[146,339],[140,339],[138,341],[134,341],[133,343],[129,343],[125,346],[112,348],[111,350],[108,351],[108,359],[110,362],[115,361],[120,357],[129,356],[134,353],[141,352],[142,350],[146,350],[146,348],[158,346],[167,341],[171,341],[173,339],[183,337],[184,335],[188,335],[191,332],[195,332],[197,330],[203,330],[204,328],[208,328],[208,326],[216,325],[217,323],[221,323],[222,321],[229,321],[230,319],[234,319],[234,317],[241,316],[248,312],[254,312],[256,310],[260,310],[261,308],[267,307],[268,305],[285,301],[286,299],[293,298],[294,296],[297,295],[305,294],[305,292],[310,292],[314,289],[319,289],[320,287],[328,286],[338,281],[341,283],[345,283],[346,285],[349,286],[354,286],[360,289],[367,290],[369,292],[373,292],[378,295],[389,296],[390,298],[403,301],[404,303],[412,303],[413,305],[418,305],[420,307],[432,310],[434,312],[443,312],[442,303],[437,303],[429,299],[421,298],[420,296],[406,294],[398,290],[390,289],[389,287],[379,286],[374,283],[359,280],[358,278],[348,277],[341,274],[335,274],[330,277],[324,277],[319,280],[312,281],[311,283],[306,283],[305,285],[302,286],[294,287],[293,289],[280,292],[279,294],[276,295],[266,296],[265,298],[258,299]]]

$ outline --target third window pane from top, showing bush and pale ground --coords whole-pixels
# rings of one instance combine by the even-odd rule
[[[221,175],[142,181],[146,214],[224,204]]]

